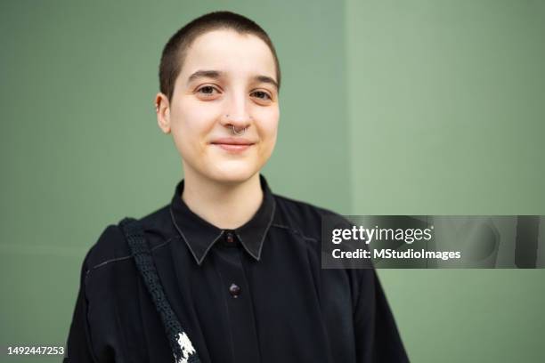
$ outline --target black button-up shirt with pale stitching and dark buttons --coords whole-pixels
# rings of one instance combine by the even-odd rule
[[[406,362],[375,270],[321,269],[321,216],[275,195],[222,230],[183,202],[143,217],[175,315],[203,363]],[[85,256],[65,362],[173,362],[165,329],[118,224]]]

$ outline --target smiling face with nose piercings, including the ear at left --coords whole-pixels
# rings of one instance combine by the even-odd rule
[[[247,181],[276,142],[280,109],[273,53],[257,36],[209,31],[188,48],[172,100],[159,93],[156,103],[159,127],[173,134],[186,176]]]

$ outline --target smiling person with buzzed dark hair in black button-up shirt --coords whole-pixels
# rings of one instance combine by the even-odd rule
[[[261,173],[281,87],[265,31],[233,12],[192,20],[168,40],[159,83],[157,120],[173,136],[183,179],[170,203],[138,222],[191,354],[215,363],[408,361],[375,270],[321,269],[321,217],[334,212],[274,194]],[[82,264],[65,362],[175,360],[134,262],[110,224]]]

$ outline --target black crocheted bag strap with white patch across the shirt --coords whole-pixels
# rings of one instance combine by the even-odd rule
[[[134,218],[126,217],[119,222],[119,226],[125,234],[143,282],[151,295],[157,311],[159,311],[167,333],[168,343],[170,343],[170,347],[174,353],[175,363],[200,363],[197,351],[193,348],[189,336],[183,331],[182,325],[176,318],[170,303],[168,303],[167,296],[155,269],[150,246],[144,236],[142,225]]]

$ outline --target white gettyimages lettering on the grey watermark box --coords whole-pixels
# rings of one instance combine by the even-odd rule
[[[331,242],[338,245],[343,241],[363,241],[369,245],[371,241],[404,241],[411,244],[414,241],[429,241],[432,236],[434,226],[426,229],[419,228],[365,228],[363,226],[352,226],[352,228],[338,228],[332,230]]]

